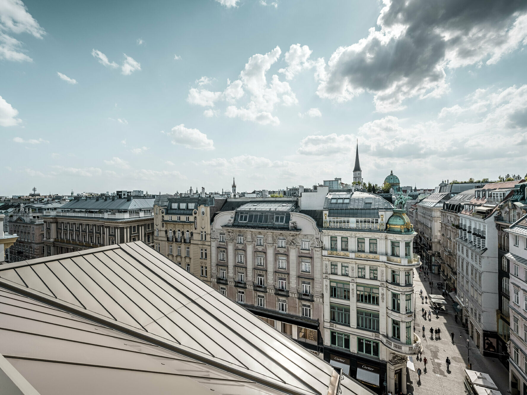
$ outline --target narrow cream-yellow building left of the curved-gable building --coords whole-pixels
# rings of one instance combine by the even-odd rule
[[[225,202],[225,198],[200,195],[158,196],[154,202],[154,249],[210,285],[210,221]]]

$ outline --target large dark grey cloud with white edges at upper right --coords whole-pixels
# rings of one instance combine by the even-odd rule
[[[527,44],[527,3],[383,0],[377,19],[358,43],[341,46],[326,64],[316,62],[317,94],[338,102],[363,92],[377,111],[404,108],[409,97],[437,97],[448,90],[446,68],[497,62]]]

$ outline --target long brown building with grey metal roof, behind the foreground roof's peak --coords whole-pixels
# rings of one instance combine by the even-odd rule
[[[75,196],[56,210],[44,211],[44,254],[144,241],[153,246],[153,197]]]

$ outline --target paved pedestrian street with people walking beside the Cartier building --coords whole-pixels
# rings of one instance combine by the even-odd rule
[[[441,293],[437,289],[436,283],[440,281],[438,274],[431,274],[430,280],[423,279],[423,274],[419,278],[419,271],[414,270],[414,286],[416,291],[415,307],[416,307],[416,320],[415,320],[415,332],[421,337],[423,343],[423,354],[422,358],[426,357],[427,364],[426,369],[421,358],[414,358],[415,370],[421,368],[421,380],[418,381],[417,373],[408,370],[409,375],[407,376],[407,393],[408,394],[447,394],[447,395],[458,395],[464,394],[465,387],[463,384],[465,369],[467,368],[467,348],[466,339],[468,333],[465,329],[454,320],[454,308],[452,307],[452,301],[450,297],[447,297],[449,302],[447,305],[447,312],[439,313],[439,317],[436,318],[435,314],[432,313],[431,320],[428,320],[428,316],[423,319],[421,313],[422,308],[425,311],[431,310],[430,300],[428,303],[421,303],[419,298],[419,291],[423,290],[423,295],[430,295],[431,289],[428,285],[428,281],[434,281],[433,293]],[[424,284],[426,285],[424,285]],[[425,335],[423,336],[422,327],[425,326]],[[441,339],[434,339],[430,335],[430,328],[441,329]],[[454,342],[451,340],[451,333],[454,332]],[[461,337],[460,337],[461,334]],[[480,351],[476,348],[472,339],[470,339],[470,361],[472,363],[472,369],[489,373],[496,386],[503,395],[509,392],[509,371],[505,369],[503,364],[495,359],[489,357],[483,357]],[[450,369],[446,370],[446,357],[451,361]]]

